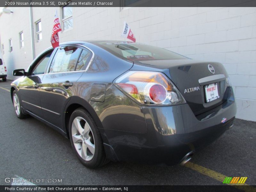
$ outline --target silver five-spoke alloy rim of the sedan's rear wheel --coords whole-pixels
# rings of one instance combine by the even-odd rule
[[[72,140],[77,153],[85,161],[92,160],[95,153],[94,137],[90,125],[83,117],[76,117],[72,123]]]

